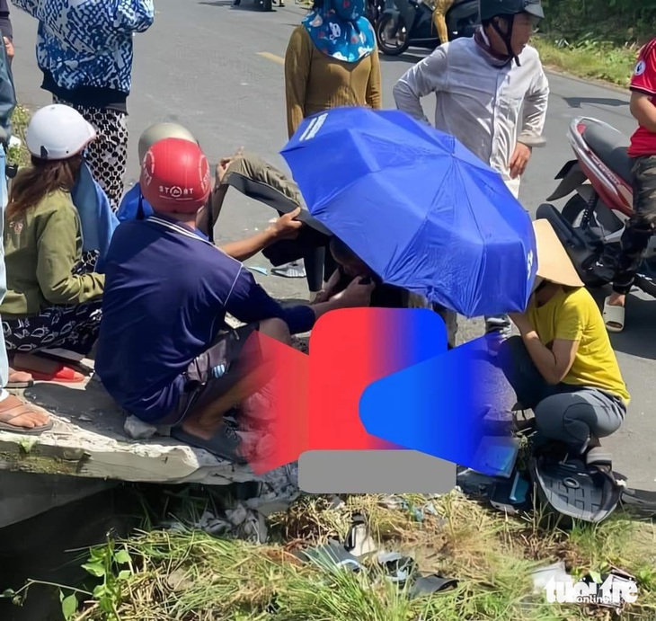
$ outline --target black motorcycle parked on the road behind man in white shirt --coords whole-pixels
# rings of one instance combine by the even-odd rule
[[[422,49],[435,49],[441,43],[433,23],[433,10],[423,0],[407,0],[408,8],[402,12],[394,8],[385,8],[382,13],[381,0],[370,0],[377,15],[373,22],[376,31],[378,49],[388,56],[400,56],[411,45]],[[405,13],[405,14],[403,14]],[[479,24],[478,0],[456,0],[449,8],[447,21],[448,39],[472,37]]]

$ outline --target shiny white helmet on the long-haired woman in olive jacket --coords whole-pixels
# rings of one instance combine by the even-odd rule
[[[95,138],[93,126],[78,111],[61,104],[36,111],[25,132],[31,155],[43,160],[73,157]]]

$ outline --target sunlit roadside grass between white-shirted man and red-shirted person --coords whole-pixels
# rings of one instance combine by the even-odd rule
[[[532,40],[545,67],[628,87],[638,53],[634,44],[616,45],[586,38],[569,42],[539,35]]]

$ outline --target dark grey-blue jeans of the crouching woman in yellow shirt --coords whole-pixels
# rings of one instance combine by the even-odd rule
[[[619,396],[590,386],[547,384],[519,336],[501,345],[499,359],[519,403],[535,413],[542,441],[558,440],[582,453],[592,437],[606,438],[625,420]]]

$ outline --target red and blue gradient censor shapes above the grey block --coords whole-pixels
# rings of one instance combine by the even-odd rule
[[[249,418],[268,421],[258,431],[274,439],[265,453],[247,456],[255,474],[310,450],[401,448],[493,474],[483,433],[483,414],[494,406],[485,346],[479,340],[447,353],[439,315],[335,311],[315,325],[309,356],[261,333],[250,338],[266,369],[266,398],[248,400]]]

